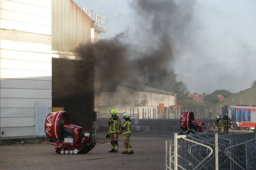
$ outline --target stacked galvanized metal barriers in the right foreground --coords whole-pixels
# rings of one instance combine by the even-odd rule
[[[166,170],[256,169],[255,133],[175,133],[165,144]]]

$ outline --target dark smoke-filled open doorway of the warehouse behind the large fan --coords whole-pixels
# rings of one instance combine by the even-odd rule
[[[92,129],[94,63],[52,58],[52,106],[64,107],[72,124]]]

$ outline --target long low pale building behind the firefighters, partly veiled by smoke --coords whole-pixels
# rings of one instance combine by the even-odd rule
[[[169,91],[122,82],[115,85],[114,92],[100,93],[100,113],[108,113],[111,109],[115,109],[119,113],[127,111],[132,114],[134,109],[136,113],[139,109],[139,118],[142,118],[142,109],[146,109],[146,112],[152,109],[151,114],[153,114],[153,109],[157,109],[159,104],[167,107],[175,105],[176,96],[176,93]],[[148,103],[139,106],[138,104],[145,98]]]

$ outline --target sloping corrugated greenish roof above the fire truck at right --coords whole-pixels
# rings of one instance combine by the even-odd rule
[[[221,102],[218,102],[209,108],[209,111],[220,113],[221,106],[225,105],[228,106],[228,109],[230,109],[231,105],[256,105],[256,87],[248,88],[235,95],[225,98]]]

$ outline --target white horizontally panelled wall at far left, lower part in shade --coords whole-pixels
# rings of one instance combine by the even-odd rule
[[[51,0],[0,0],[0,138],[37,134],[35,104],[51,112],[51,11]]]

